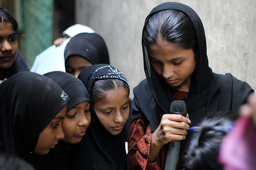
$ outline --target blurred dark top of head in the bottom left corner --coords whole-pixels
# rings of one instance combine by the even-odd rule
[[[0,170],[34,170],[34,168],[19,157],[1,153]]]

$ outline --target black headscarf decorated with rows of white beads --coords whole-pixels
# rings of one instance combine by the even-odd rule
[[[120,79],[128,84],[120,70],[107,64],[86,67],[78,75],[78,78],[84,83],[90,99],[91,90],[96,80]],[[70,169],[82,170],[86,167],[95,170],[124,170],[126,168],[125,128],[120,134],[112,135],[99,121],[93,104],[90,106],[93,121],[91,121],[88,132],[82,141],[73,145]]]

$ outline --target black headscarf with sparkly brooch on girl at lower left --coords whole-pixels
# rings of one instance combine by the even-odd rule
[[[29,71],[13,75],[0,87],[0,150],[29,160],[39,134],[68,96],[51,79]]]

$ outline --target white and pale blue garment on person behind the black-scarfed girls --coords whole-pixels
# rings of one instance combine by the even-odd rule
[[[82,24],[75,24],[63,31],[62,34],[67,34],[68,36],[73,37],[76,34],[84,32],[95,33],[95,31],[88,26],[84,26]],[[37,55],[30,71],[39,74],[45,74],[51,71],[66,72],[64,50],[69,40],[70,38],[63,41],[63,43],[59,47],[53,45]]]

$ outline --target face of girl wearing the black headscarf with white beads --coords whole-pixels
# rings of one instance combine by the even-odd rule
[[[105,97],[94,104],[102,125],[112,134],[122,132],[130,113],[129,93],[124,87],[105,91]]]

